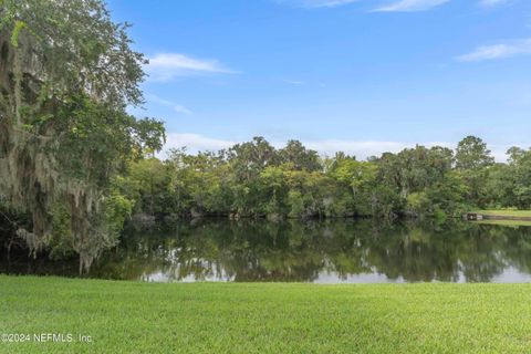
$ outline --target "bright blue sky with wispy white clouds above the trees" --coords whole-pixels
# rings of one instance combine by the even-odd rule
[[[529,0],[110,0],[168,147],[531,146]]]

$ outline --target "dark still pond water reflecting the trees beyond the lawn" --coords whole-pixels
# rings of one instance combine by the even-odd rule
[[[0,272],[77,277],[12,256]],[[129,231],[83,277],[157,282],[531,282],[531,227],[373,220],[201,220]]]

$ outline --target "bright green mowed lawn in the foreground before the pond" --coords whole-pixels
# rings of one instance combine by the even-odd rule
[[[0,353],[524,353],[531,285],[164,284],[0,275]]]

